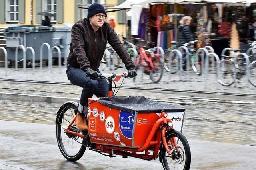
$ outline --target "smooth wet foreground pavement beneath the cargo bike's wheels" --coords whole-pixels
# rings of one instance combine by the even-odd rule
[[[68,162],[58,149],[54,125],[0,121],[0,169],[161,170],[158,159],[109,158],[86,150],[77,162]],[[256,147],[188,138],[191,170],[253,170]]]

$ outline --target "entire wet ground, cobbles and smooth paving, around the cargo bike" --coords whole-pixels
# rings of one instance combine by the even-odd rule
[[[56,112],[68,100],[78,102],[82,88],[70,84],[63,66],[61,73],[56,66],[53,72],[36,68],[33,76],[28,69],[24,76],[21,68],[9,68],[5,77],[0,68],[0,120],[6,120],[0,121],[0,169],[162,169],[158,160],[108,158],[88,150],[77,163],[65,161],[56,143]],[[247,88],[241,80],[237,87],[218,85],[216,89],[214,77],[210,74],[205,89],[204,75],[190,72],[180,81],[177,74],[169,80],[166,73],[153,84],[146,75],[142,82],[139,71],[135,82],[124,80],[117,96],[143,95],[184,107],[182,133],[192,149],[191,169],[254,169],[256,88]]]

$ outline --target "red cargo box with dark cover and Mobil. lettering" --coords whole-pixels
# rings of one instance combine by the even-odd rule
[[[144,96],[88,99],[88,131],[92,143],[142,147],[160,117],[168,113],[174,129],[182,131],[185,109],[148,100]]]

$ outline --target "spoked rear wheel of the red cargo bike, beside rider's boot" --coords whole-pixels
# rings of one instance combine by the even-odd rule
[[[79,160],[86,150],[86,141],[81,137],[67,133],[65,129],[70,125],[74,119],[75,112],[74,109],[76,105],[72,102],[65,103],[62,109],[59,110],[56,120],[56,136],[57,143],[62,155],[71,161]],[[76,129],[76,123],[74,122],[70,131],[77,133],[83,133],[82,131]]]

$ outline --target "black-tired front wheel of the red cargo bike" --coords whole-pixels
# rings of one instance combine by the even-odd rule
[[[178,147],[180,147],[181,144],[183,145],[184,148],[182,148],[182,147],[179,148],[180,150],[183,150],[183,152],[177,152],[177,150],[174,149],[174,147],[170,143],[168,143],[170,140],[172,140],[172,137],[175,137]],[[170,131],[166,134],[166,141],[167,141],[168,146],[170,147],[170,150],[174,149],[172,154],[174,154],[174,152],[175,152],[176,154],[178,154],[177,156],[180,156],[180,158],[179,159],[178,158],[174,158],[174,159],[171,158],[167,154],[166,149],[164,147],[164,144],[162,143],[161,146],[160,146],[160,153],[161,154],[160,154],[159,158],[161,159],[160,162],[162,161],[162,165],[163,165],[164,170],[174,169],[174,168],[170,168],[168,162],[176,163],[176,164],[174,164],[174,166],[176,167],[176,166],[182,164],[184,162],[184,160],[185,160],[185,162],[184,162],[183,170],[189,170],[190,164],[191,164],[191,152],[190,152],[190,147],[189,147],[189,144],[188,144],[188,141],[187,141],[186,137],[182,133],[180,133],[179,131],[174,130],[174,131]],[[183,155],[183,160],[182,160],[181,163],[179,163],[180,159],[182,159],[182,154],[180,154],[180,153],[185,154],[185,155]],[[166,155],[168,155],[168,156],[166,156]],[[185,156],[185,158],[184,158],[184,156]],[[170,160],[168,161],[167,158],[170,158]],[[180,168],[182,168],[182,167],[180,167]],[[180,169],[180,168],[178,167],[178,169]]]

